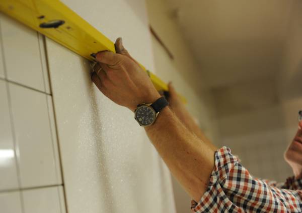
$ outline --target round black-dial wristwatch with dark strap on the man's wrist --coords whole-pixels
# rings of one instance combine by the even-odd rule
[[[134,111],[134,119],[140,126],[150,126],[155,122],[160,111],[168,105],[169,102],[164,96],[156,100],[153,104],[139,104]]]

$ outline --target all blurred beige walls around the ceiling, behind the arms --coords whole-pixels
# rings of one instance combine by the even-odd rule
[[[282,60],[276,62],[283,64],[280,75],[276,70],[274,77],[211,92],[203,89],[207,85],[186,45],[189,41],[182,38],[166,2],[146,2],[150,25],[175,57],[171,60],[153,38],[156,73],[165,81],[172,80],[185,94],[187,108],[200,127],[216,145],[231,147],[253,175],[277,181],[292,175],[283,152],[297,129],[297,112],[302,109],[302,2],[293,1]],[[175,180],[173,186],[178,212],[189,212],[190,198]]]

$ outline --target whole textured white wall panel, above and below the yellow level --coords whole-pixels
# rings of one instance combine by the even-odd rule
[[[153,66],[142,1],[64,2]],[[175,212],[170,173],[133,113],[98,91],[85,59],[46,44],[68,212]]]

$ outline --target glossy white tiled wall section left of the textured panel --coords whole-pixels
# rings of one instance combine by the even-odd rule
[[[1,213],[66,212],[50,93],[43,36],[0,13]]]

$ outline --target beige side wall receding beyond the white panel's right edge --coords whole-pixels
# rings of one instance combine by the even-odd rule
[[[174,60],[170,59],[155,37],[152,38],[156,74],[165,82],[173,82],[177,91],[187,98],[187,109],[198,120],[200,127],[209,138],[215,140],[211,95],[202,89],[206,82],[202,78],[196,78],[200,70],[194,56],[170,16],[165,2],[147,0],[146,3],[150,25],[174,55]],[[173,188],[177,212],[190,212],[191,198],[174,178]]]

